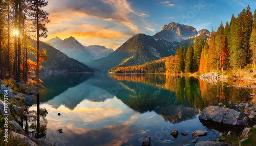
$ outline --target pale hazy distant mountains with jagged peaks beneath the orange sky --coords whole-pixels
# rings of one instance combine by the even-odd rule
[[[64,40],[55,37],[47,41],[47,43],[69,57],[88,65],[92,60],[106,57],[114,52],[111,48],[106,48],[105,46],[100,45],[83,46],[74,37],[69,37]]]

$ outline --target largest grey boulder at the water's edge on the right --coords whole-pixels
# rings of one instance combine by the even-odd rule
[[[223,124],[237,125],[240,112],[218,106],[209,106],[203,109],[200,119],[217,121]]]

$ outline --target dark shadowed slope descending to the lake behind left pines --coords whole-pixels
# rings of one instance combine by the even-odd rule
[[[30,40],[30,42],[31,46],[36,48],[36,41]],[[87,65],[68,57],[51,45],[40,41],[40,52],[42,52],[42,48],[46,48],[48,58],[47,61],[42,62],[41,65],[50,70],[66,70],[67,72],[93,72],[93,70]],[[35,55],[31,53],[29,54],[29,59],[36,61]]]

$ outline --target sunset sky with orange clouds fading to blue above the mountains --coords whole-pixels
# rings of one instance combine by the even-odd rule
[[[230,21],[255,0],[49,0],[48,38],[75,37],[83,45],[104,45],[116,50],[138,33],[154,35],[170,22],[197,31]]]

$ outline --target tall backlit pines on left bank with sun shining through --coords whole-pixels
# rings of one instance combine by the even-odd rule
[[[34,69],[39,81],[40,63],[47,59],[46,50],[39,52],[39,37],[47,37],[48,13],[42,9],[47,5],[45,0],[0,1],[1,79],[8,74],[17,82],[20,77],[26,82],[30,69]],[[30,43],[33,35],[36,36],[36,49]],[[29,53],[36,55],[36,63],[28,59]]]

